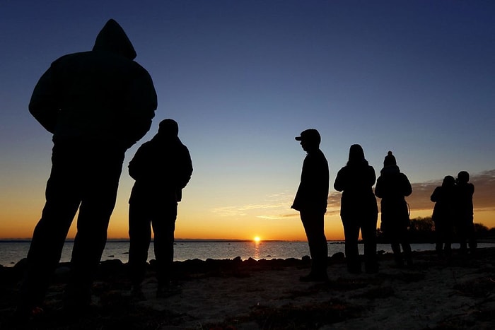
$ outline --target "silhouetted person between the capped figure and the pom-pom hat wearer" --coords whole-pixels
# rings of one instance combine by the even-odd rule
[[[366,273],[378,272],[376,260],[376,222],[378,206],[373,184],[375,170],[364,158],[363,148],[353,144],[349,150],[349,161],[337,173],[334,189],[342,191],[340,217],[344,225],[347,270],[361,273],[359,260],[359,230],[363,237]]]

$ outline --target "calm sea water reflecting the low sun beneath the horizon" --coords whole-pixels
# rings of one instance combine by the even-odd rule
[[[0,242],[0,265],[13,266],[19,260],[25,258],[29,249],[29,242]],[[66,242],[62,252],[62,262],[71,259],[73,242]],[[494,243],[480,243],[479,247],[495,247]],[[453,248],[458,245],[453,244]],[[109,241],[103,252],[102,260],[120,259],[128,261],[127,251],[129,242]],[[429,251],[435,249],[434,244],[412,244],[414,251]],[[378,244],[378,250],[392,252],[390,244]],[[344,252],[344,242],[328,242],[328,255]],[[359,252],[363,254],[363,244],[359,244]],[[308,242],[288,241],[177,241],[174,249],[174,259],[184,261],[187,259],[287,259],[309,255]],[[154,259],[153,243],[148,253],[148,260]]]

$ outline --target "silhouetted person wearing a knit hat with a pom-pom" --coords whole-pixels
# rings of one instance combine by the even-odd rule
[[[412,193],[411,183],[404,173],[400,172],[392,151],[389,151],[383,160],[383,169],[376,180],[375,195],[382,199],[382,221],[380,228],[390,241],[394,253],[395,264],[412,265],[411,245],[407,237],[409,227],[409,207],[405,200]],[[404,259],[400,253],[400,245],[404,252]]]

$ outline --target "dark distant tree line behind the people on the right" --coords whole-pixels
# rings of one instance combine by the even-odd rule
[[[431,220],[431,216],[425,218],[413,218],[409,225],[409,240],[412,243],[434,243],[435,242],[435,223]],[[478,239],[494,238],[495,228],[488,228],[482,223],[474,223],[474,231]],[[383,232],[378,228],[376,230],[378,242],[388,243]],[[455,242],[455,239],[454,239]]]

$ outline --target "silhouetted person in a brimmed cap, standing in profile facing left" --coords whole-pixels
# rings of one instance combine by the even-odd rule
[[[304,158],[301,182],[291,208],[299,211],[311,254],[311,271],[300,280],[327,281],[328,247],[324,216],[330,181],[328,163],[320,150],[321,137],[316,129],[306,129],[296,140],[301,141],[308,155]]]

